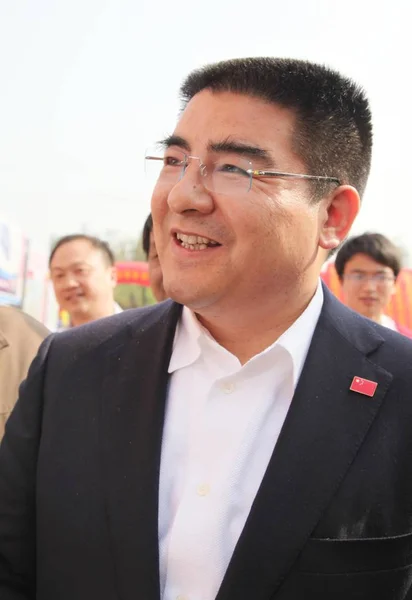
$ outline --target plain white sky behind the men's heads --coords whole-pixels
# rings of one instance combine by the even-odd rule
[[[83,224],[138,237],[144,150],[172,131],[186,74],[290,56],[365,87],[375,147],[355,232],[412,250],[409,13],[406,0],[0,0],[0,214],[37,243]]]

